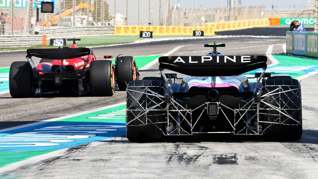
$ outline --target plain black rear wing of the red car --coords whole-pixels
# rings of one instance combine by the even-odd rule
[[[73,40],[73,39],[72,39]],[[28,49],[27,56],[38,57],[43,59],[75,59],[89,55],[91,50],[88,48],[49,48],[49,49]]]

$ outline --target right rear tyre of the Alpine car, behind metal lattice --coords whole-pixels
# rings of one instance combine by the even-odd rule
[[[260,110],[261,116],[263,116],[262,120],[274,122],[263,123],[262,130],[265,139],[268,141],[299,140],[302,135],[301,90],[297,89],[300,88],[299,81],[291,78],[269,78],[262,85],[262,95],[273,93],[273,95],[263,97],[262,101],[276,107],[276,109],[280,109],[282,112],[280,113],[269,105],[261,105],[261,108],[263,108]],[[279,88],[279,85],[283,86]],[[287,90],[293,91],[279,93]],[[300,124],[284,114],[300,121]]]

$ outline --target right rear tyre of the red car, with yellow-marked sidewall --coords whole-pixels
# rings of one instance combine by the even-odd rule
[[[113,96],[115,65],[110,60],[96,60],[89,65],[90,91],[93,96]]]

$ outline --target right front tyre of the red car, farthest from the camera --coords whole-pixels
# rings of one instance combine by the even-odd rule
[[[117,85],[119,90],[125,91],[130,81],[137,79],[137,66],[131,56],[118,57],[116,60]]]

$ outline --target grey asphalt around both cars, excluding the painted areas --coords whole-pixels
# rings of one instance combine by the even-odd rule
[[[261,34],[259,34],[261,35]],[[275,34],[274,34],[275,35]],[[93,48],[103,55],[203,55],[204,43],[226,43],[226,55],[282,53],[285,38],[227,37],[177,40]],[[25,52],[1,54],[0,67],[25,61]],[[38,62],[35,62],[38,63]],[[271,61],[268,60],[268,65]],[[141,77],[159,76],[158,63],[141,70]],[[302,79],[303,136],[295,142],[267,142],[261,137],[223,136],[166,138],[157,143],[131,143],[125,136],[68,148],[65,154],[11,170],[14,178],[317,178],[318,75]],[[13,99],[0,94],[0,128],[42,121],[124,102],[126,93],[113,97],[44,95]]]

